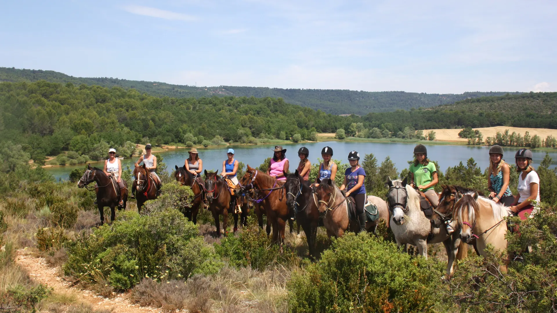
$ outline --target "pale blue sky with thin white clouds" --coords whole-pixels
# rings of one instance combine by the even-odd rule
[[[556,1],[3,1],[0,66],[198,86],[557,91]]]

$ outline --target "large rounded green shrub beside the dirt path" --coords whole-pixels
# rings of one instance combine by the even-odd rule
[[[187,278],[222,266],[197,227],[175,209],[151,216],[124,212],[113,225],[79,237],[68,253],[66,275],[85,282],[106,277],[118,289],[133,287],[143,277]]]

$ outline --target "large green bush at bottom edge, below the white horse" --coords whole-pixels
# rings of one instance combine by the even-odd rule
[[[433,312],[443,265],[360,233],[334,239],[288,283],[292,312]]]

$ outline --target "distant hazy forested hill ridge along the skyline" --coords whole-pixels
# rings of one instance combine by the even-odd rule
[[[483,96],[502,96],[522,92],[464,92],[463,94],[425,94],[404,91],[354,91],[340,89],[282,89],[269,87],[218,86],[197,87],[172,85],[157,81],[136,81],[112,77],[74,77],[56,71],[15,69],[0,67],[0,81],[38,81],[80,85],[119,86],[134,88],[154,96],[211,97],[246,96],[282,98],[285,102],[319,109],[330,114],[358,114],[409,110],[417,107],[433,107],[452,104],[465,99]]]

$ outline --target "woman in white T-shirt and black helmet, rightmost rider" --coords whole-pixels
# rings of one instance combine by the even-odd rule
[[[518,213],[520,219],[526,219],[525,214],[535,213],[536,207],[532,200],[540,201],[540,178],[532,167],[532,151],[520,149],[516,151],[516,172],[519,172],[519,194],[515,197],[511,211]]]

